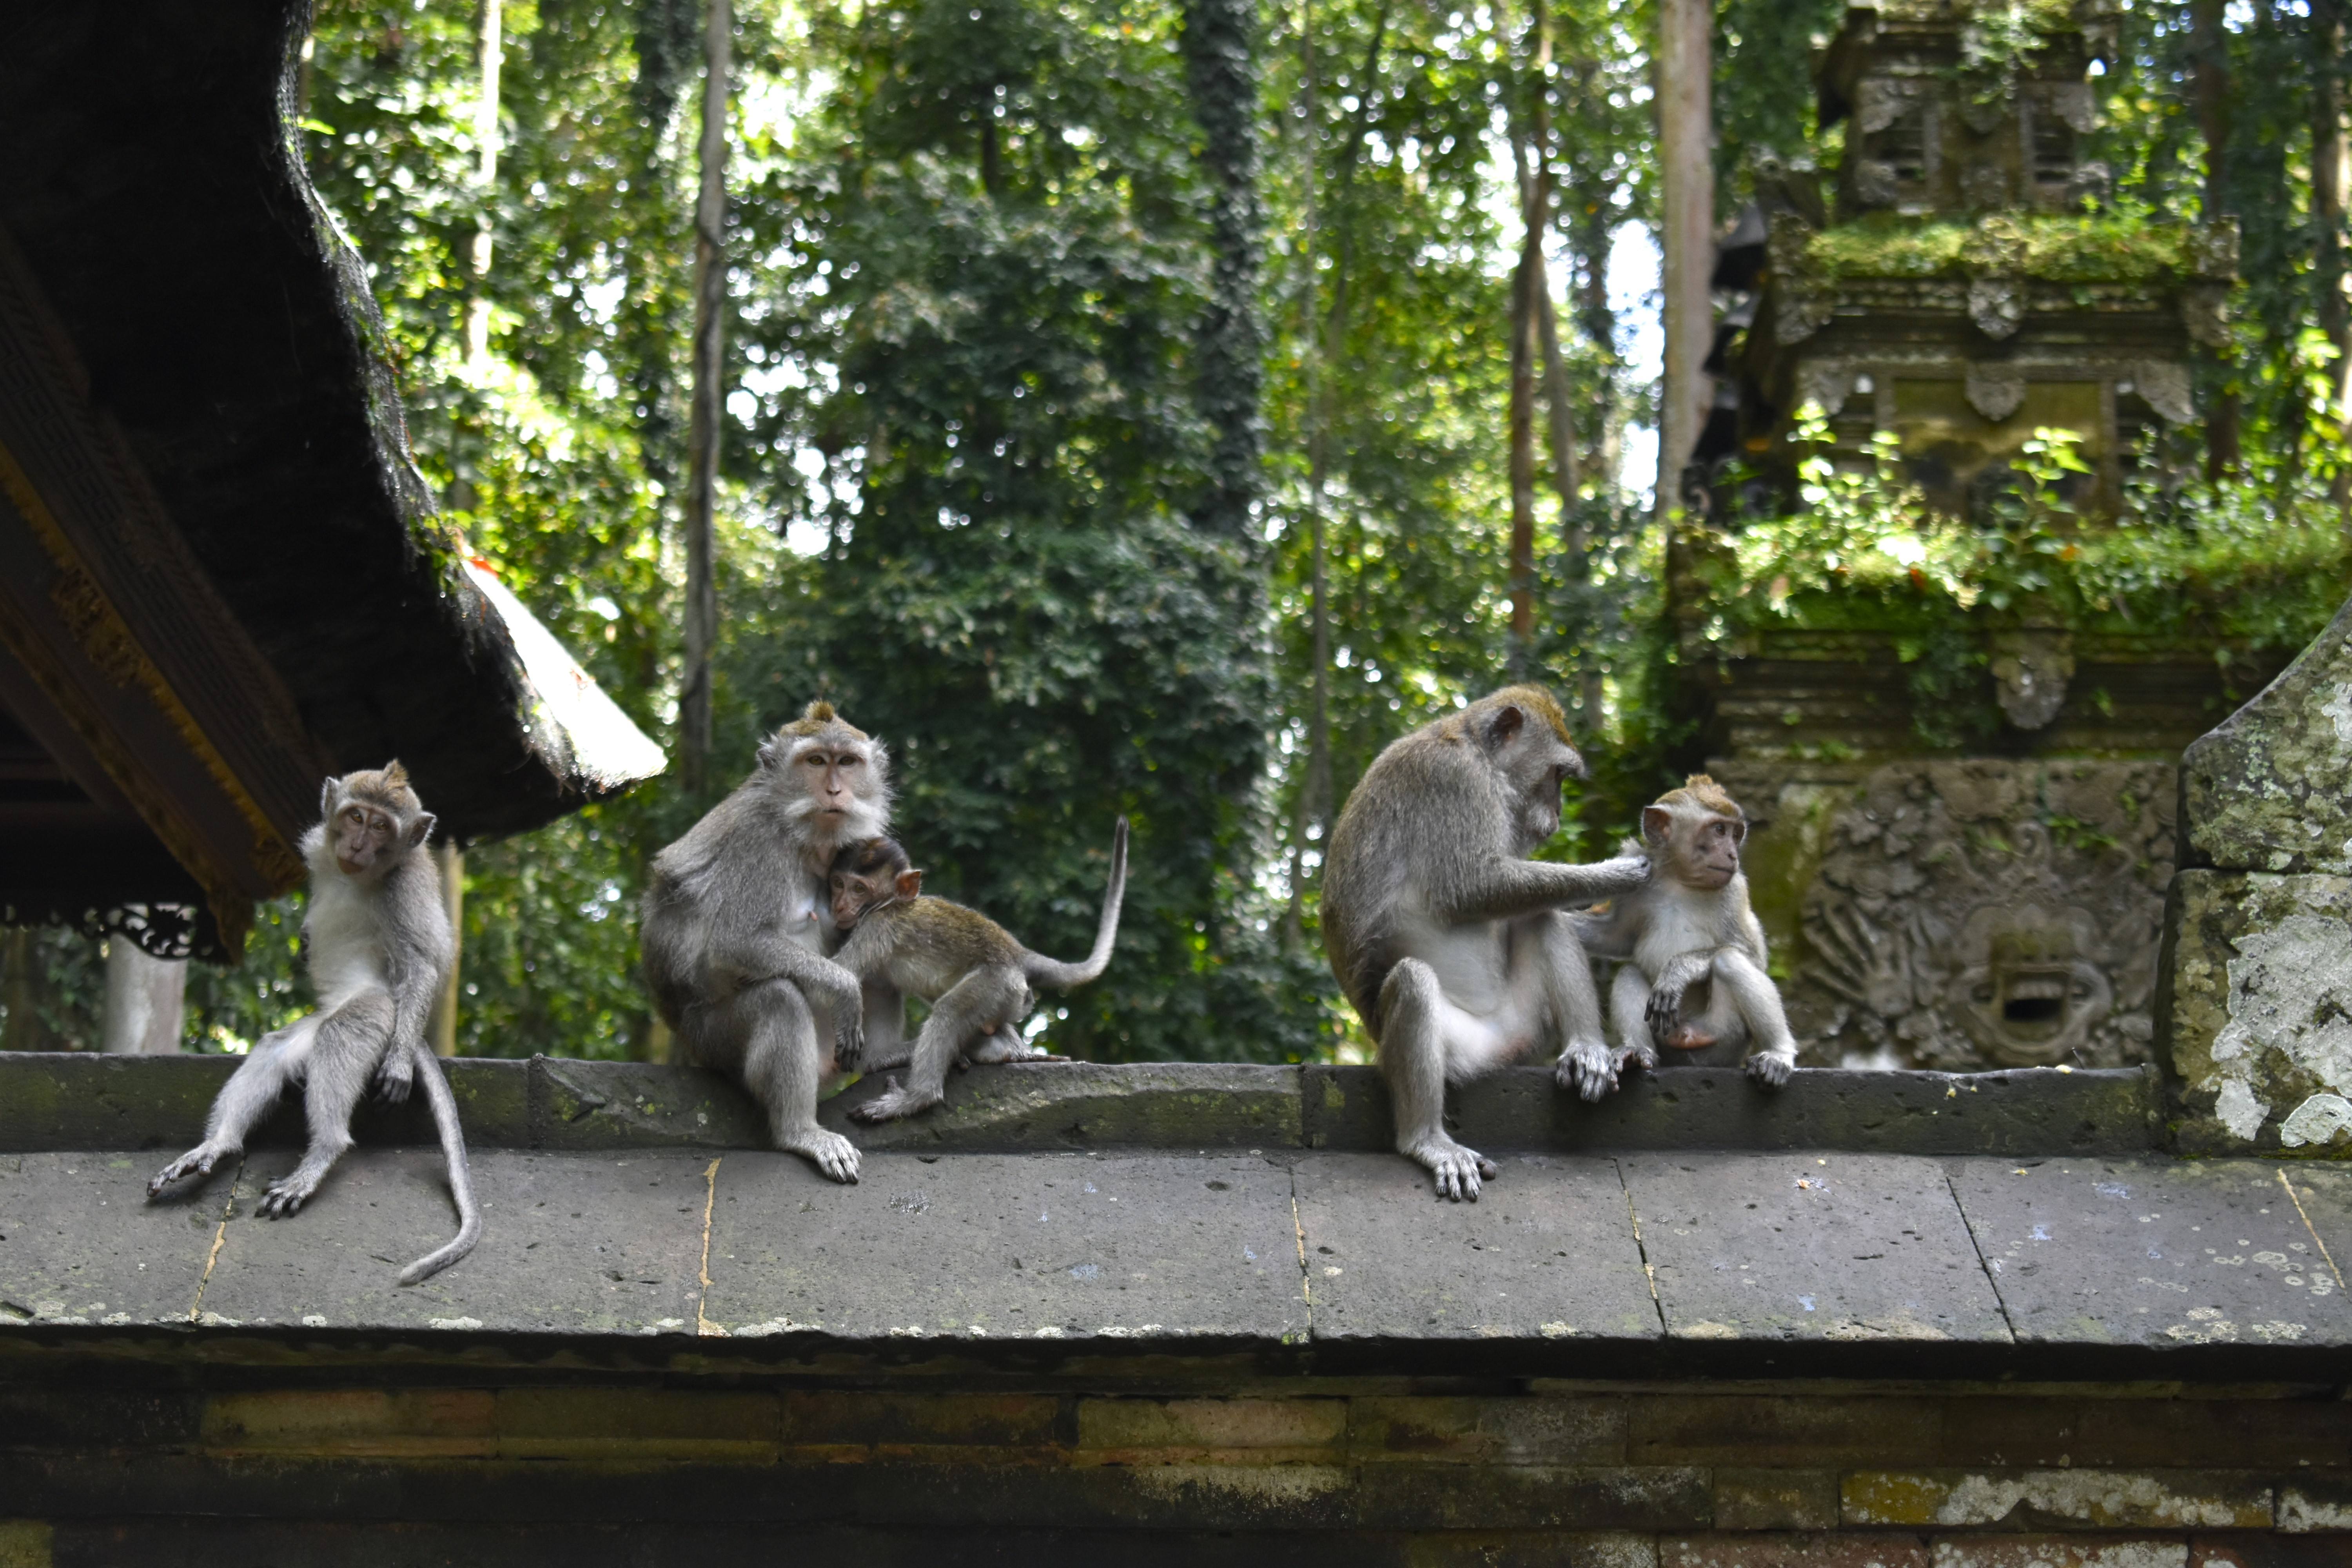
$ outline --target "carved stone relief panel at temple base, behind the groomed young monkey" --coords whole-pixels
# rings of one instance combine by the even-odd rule
[[[2173,766],[1896,762],[1828,825],[1785,990],[1806,1060],[2147,1060]]]

